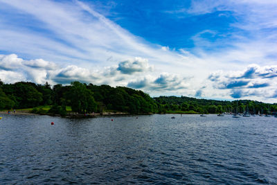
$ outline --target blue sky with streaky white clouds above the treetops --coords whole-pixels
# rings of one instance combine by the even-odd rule
[[[277,103],[276,0],[0,0],[0,79]]]

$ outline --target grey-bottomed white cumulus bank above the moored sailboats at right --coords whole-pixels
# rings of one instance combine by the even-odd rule
[[[242,71],[214,72],[208,76],[215,89],[226,89],[231,98],[274,97],[277,76],[276,66],[260,67],[251,64]]]

